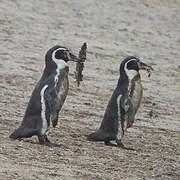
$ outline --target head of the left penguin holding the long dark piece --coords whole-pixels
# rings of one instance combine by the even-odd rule
[[[46,53],[46,64],[58,63],[58,61],[74,61],[78,62],[79,58],[71,53],[71,51],[63,46],[54,46]]]

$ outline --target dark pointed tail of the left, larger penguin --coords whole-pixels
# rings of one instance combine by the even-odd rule
[[[9,138],[11,139],[20,139],[32,137],[37,134],[37,130],[30,129],[26,126],[20,126],[17,128],[12,134],[10,134]]]

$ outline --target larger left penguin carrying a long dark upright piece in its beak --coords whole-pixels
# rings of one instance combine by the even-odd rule
[[[9,136],[11,139],[36,135],[40,144],[53,145],[48,130],[50,122],[56,127],[68,93],[68,61],[79,62],[79,58],[66,47],[56,45],[47,51],[42,77],[32,92],[20,127]]]

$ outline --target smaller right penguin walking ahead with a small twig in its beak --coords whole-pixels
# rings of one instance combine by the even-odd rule
[[[87,136],[90,141],[104,141],[105,145],[115,145],[128,149],[122,140],[130,128],[139,109],[143,89],[139,70],[150,73],[151,66],[138,58],[129,56],[120,64],[120,77],[104,113],[100,128]]]

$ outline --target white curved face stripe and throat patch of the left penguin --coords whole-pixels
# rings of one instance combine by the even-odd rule
[[[56,69],[56,76],[54,77],[54,81],[55,81],[55,87],[57,86],[57,83],[58,83],[58,79],[59,79],[59,74],[60,74],[60,70],[61,69],[64,69],[67,65],[67,63],[64,61],[64,60],[60,60],[60,59],[56,59],[55,55],[56,55],[56,52],[59,51],[59,50],[65,50],[67,51],[66,48],[58,48],[56,49],[53,53],[52,53],[52,60],[56,63],[57,65],[57,69]]]

